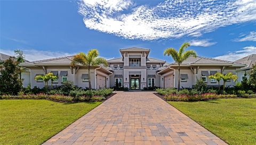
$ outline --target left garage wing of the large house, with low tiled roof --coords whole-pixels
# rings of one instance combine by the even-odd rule
[[[35,80],[35,76],[44,75],[52,72],[58,76],[58,79],[53,81],[54,86],[60,86],[67,80],[73,82],[78,87],[89,87],[88,78],[90,75],[91,85],[94,89],[109,87],[109,75],[113,74],[110,68],[96,66],[90,69],[90,74],[87,67],[83,65],[71,65],[73,56],[53,58],[32,62],[21,63],[20,66],[30,69],[31,88],[44,87],[43,80]]]

